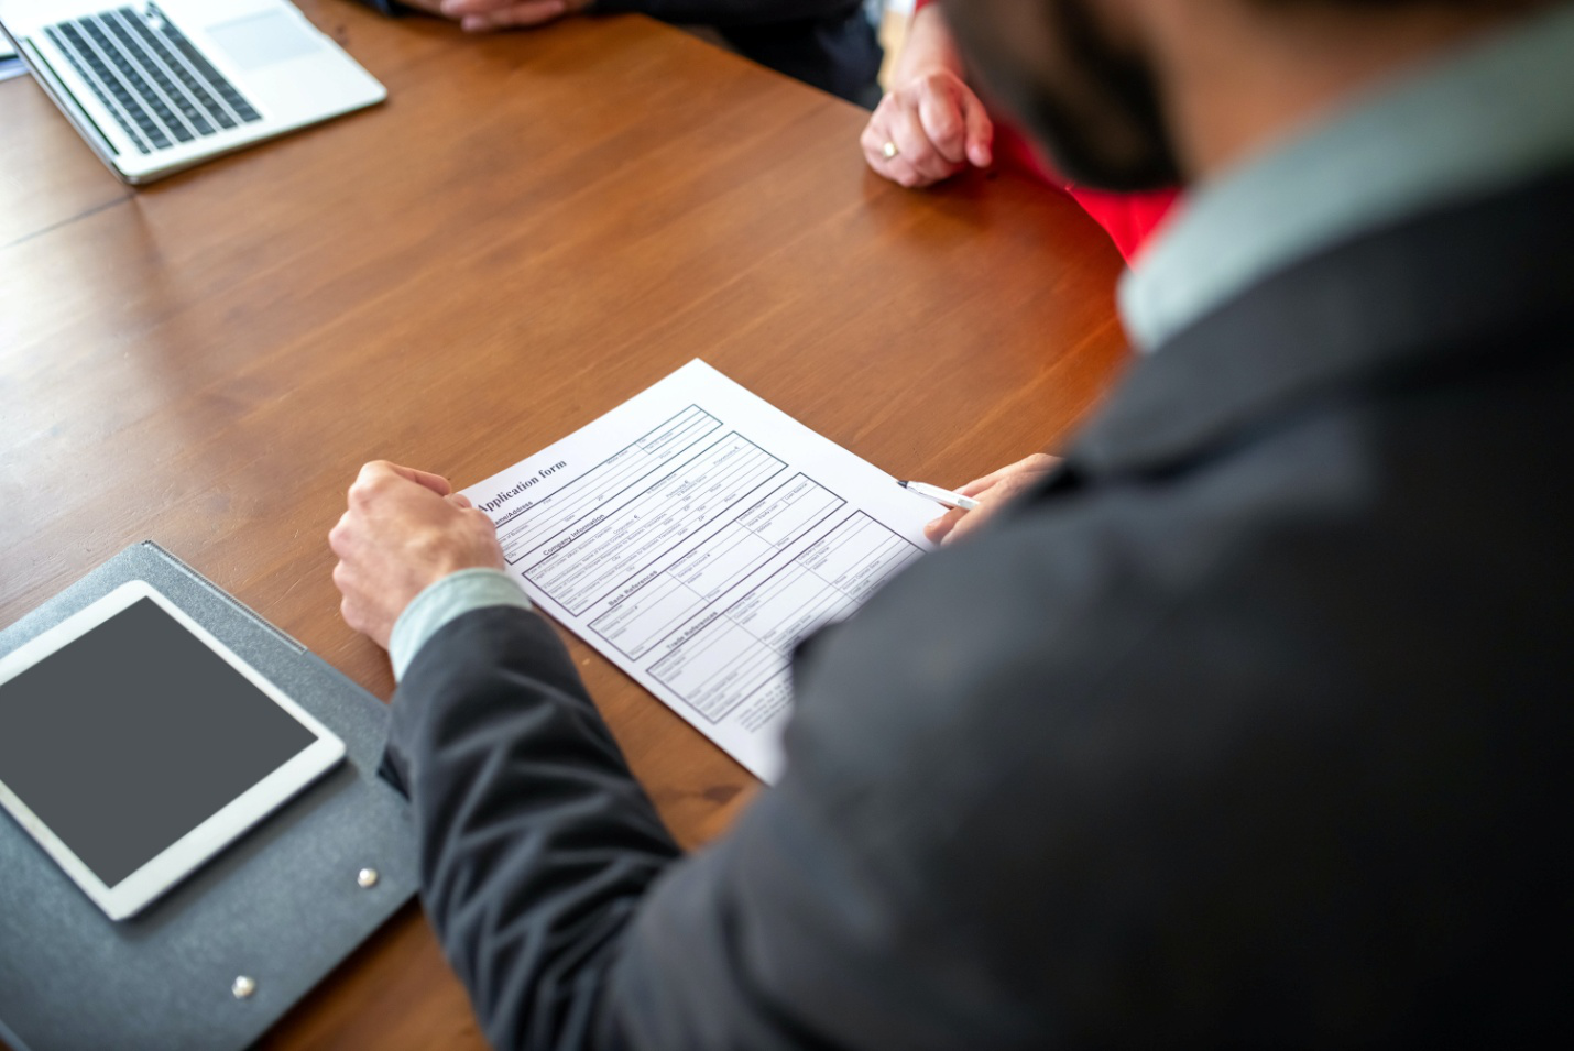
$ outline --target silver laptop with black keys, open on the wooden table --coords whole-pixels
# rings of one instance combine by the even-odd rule
[[[285,0],[0,0],[0,28],[126,183],[387,98]]]

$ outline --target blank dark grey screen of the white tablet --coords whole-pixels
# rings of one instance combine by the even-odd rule
[[[148,598],[0,683],[0,782],[110,887],[316,739]]]

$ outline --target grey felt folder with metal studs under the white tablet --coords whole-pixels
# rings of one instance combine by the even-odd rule
[[[321,719],[348,757],[118,924],[0,810],[0,1040],[14,1051],[244,1048],[416,892],[409,812],[376,773],[387,708],[157,544],[127,548],[0,631],[0,656],[137,579]],[[231,993],[241,975],[255,982],[247,999]]]

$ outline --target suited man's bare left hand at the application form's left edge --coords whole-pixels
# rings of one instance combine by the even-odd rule
[[[360,469],[327,546],[338,555],[338,612],[384,650],[394,621],[428,584],[505,565],[491,519],[447,478],[382,459]]]

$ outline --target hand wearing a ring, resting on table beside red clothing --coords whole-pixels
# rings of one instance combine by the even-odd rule
[[[995,124],[962,74],[940,8],[922,8],[891,74],[891,90],[858,140],[870,168],[914,187],[951,178],[970,164],[988,167]]]

